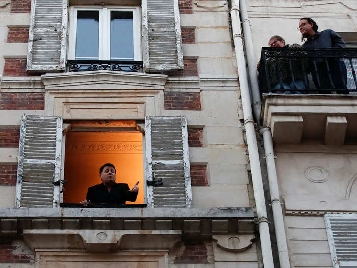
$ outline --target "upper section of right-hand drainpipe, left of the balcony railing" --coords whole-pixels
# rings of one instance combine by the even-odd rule
[[[260,91],[259,91],[258,75],[257,75],[257,62],[255,61],[256,57],[254,56],[254,51],[253,51],[253,39],[251,37],[250,21],[248,17],[246,0],[239,0],[239,4],[240,4],[240,15],[242,19],[241,23],[243,26],[243,33],[244,33],[245,53],[248,62],[251,95],[253,97],[252,105],[253,105],[254,118],[256,119],[257,122],[259,122],[262,102],[260,100]]]

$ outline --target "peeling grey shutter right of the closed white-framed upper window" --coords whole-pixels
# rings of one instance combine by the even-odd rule
[[[142,35],[145,71],[183,69],[179,0],[143,0]]]

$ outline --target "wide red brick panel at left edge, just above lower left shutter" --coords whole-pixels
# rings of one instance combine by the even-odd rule
[[[0,93],[0,110],[44,110],[44,93]]]

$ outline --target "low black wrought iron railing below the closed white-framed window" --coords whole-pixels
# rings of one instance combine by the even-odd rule
[[[67,72],[96,70],[143,72],[143,62],[109,60],[67,60]]]

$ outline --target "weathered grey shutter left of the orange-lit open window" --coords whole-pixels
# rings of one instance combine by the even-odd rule
[[[62,119],[24,115],[21,120],[16,207],[59,205]]]

